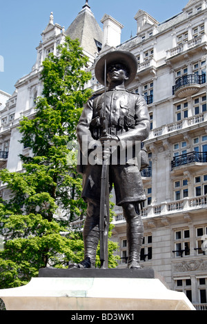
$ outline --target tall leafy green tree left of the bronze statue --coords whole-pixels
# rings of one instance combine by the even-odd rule
[[[84,89],[91,75],[79,41],[66,37],[58,50],[58,56],[50,54],[43,61],[43,97],[37,99],[34,117],[20,121],[21,143],[32,154],[21,155],[22,172],[0,172],[10,190],[10,199],[0,204],[0,234],[6,234],[0,251],[1,288],[28,283],[48,264],[64,267],[83,259],[81,231],[70,228],[86,214],[73,143],[83,104],[91,95]],[[112,256],[116,248],[109,243],[110,267],[117,265]]]

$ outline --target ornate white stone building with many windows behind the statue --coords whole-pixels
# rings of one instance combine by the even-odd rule
[[[81,27],[83,20],[84,28]],[[0,145],[10,140],[8,156],[0,160],[1,167],[21,170],[18,156],[28,152],[19,143],[19,118],[34,113],[34,101],[42,89],[41,61],[50,51],[56,52],[57,44],[66,34],[79,38],[90,59],[92,79],[86,86],[94,91],[101,88],[94,74],[94,63],[100,54],[115,48],[135,54],[137,77],[128,90],[144,95],[151,119],[146,140],[150,167],[142,172],[147,201],[143,210],[145,234],[141,263],[164,276],[170,289],[185,292],[197,308],[205,309],[207,1],[186,0],[183,10],[163,23],[143,10],[135,14],[135,20],[137,35],[121,43],[124,26],[104,14],[102,32],[88,1],[66,31],[53,23],[50,15],[37,46],[37,61],[32,71],[17,81],[17,90],[0,111]],[[85,34],[86,26],[89,29]],[[86,37],[90,40],[86,41]],[[6,113],[8,120],[4,124]],[[13,116],[12,120],[9,116]],[[113,239],[120,246],[119,267],[126,267],[126,223],[121,210],[118,207],[115,210]]]

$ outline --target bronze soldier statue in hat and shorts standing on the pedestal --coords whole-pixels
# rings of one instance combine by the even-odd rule
[[[124,50],[108,52],[95,65],[95,76],[105,86],[105,91],[88,100],[77,125],[81,152],[81,165],[78,165],[78,170],[83,174],[82,197],[88,203],[88,207],[83,227],[85,256],[81,263],[74,265],[75,267],[95,267],[97,245],[101,233],[105,230],[106,234],[108,225],[108,220],[105,220],[106,228],[101,228],[100,217],[104,216],[101,211],[104,203],[101,207],[101,201],[104,200],[108,207],[107,197],[103,197],[103,192],[107,195],[114,185],[116,204],[122,206],[126,219],[128,268],[141,268],[139,260],[144,227],[140,206],[146,200],[146,196],[140,174],[141,165],[137,163],[140,161],[141,151],[138,150],[136,156],[135,143],[142,143],[148,137],[150,119],[144,98],[128,92],[125,88],[135,79],[136,73],[137,59]],[[126,154],[127,145],[132,154]],[[123,159],[120,162],[123,150],[124,163]],[[115,152],[117,160],[116,163],[112,163],[111,156],[114,156]],[[102,163],[98,163],[100,159]],[[108,173],[105,178],[103,161],[108,161]],[[106,190],[102,188],[103,181],[106,180],[109,190],[107,185]],[[103,244],[100,241],[100,247]],[[106,256],[103,257],[103,261],[106,261]]]

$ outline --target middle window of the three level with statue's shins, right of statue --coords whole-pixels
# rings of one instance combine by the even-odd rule
[[[188,229],[175,231],[175,257],[190,255],[190,231]]]

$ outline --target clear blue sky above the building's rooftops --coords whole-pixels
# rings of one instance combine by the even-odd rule
[[[0,0],[0,90],[12,94],[14,84],[31,71],[36,61],[36,47],[46,28],[50,12],[54,23],[68,28],[85,0]],[[148,12],[160,23],[181,12],[188,0],[89,0],[99,25],[110,14],[124,25],[121,42],[136,34],[135,14]]]

